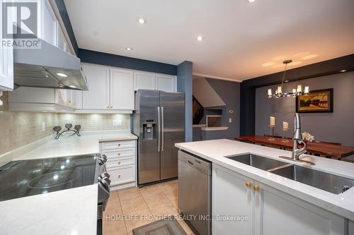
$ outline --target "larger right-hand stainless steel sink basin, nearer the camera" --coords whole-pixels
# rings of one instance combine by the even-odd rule
[[[309,186],[322,189],[329,193],[343,193],[354,186],[354,180],[342,176],[328,174],[322,171],[290,165],[281,169],[270,171],[287,179],[307,184]]]

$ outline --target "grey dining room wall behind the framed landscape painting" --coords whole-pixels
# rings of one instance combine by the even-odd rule
[[[338,142],[354,147],[354,72],[337,73],[299,81],[310,90],[333,88],[333,113],[300,114],[302,131],[308,131],[319,141]],[[297,83],[285,83],[291,90]],[[269,134],[269,116],[275,116],[275,135],[282,135],[282,121],[292,128],[295,99],[269,99],[268,88],[273,92],[277,85],[256,88],[256,135]],[[288,136],[292,131],[288,131]]]

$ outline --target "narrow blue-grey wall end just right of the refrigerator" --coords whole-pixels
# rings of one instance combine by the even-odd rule
[[[185,142],[193,141],[193,63],[177,66],[177,90],[185,92]]]

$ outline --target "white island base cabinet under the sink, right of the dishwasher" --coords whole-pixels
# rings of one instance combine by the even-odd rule
[[[212,174],[212,234],[346,234],[339,215],[217,164]]]

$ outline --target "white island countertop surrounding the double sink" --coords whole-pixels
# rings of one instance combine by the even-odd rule
[[[294,162],[279,158],[279,156],[291,157],[290,151],[225,139],[177,143],[176,147],[354,221],[354,187],[345,193],[336,195],[226,157],[251,152],[294,164]],[[312,155],[301,155],[300,158],[315,163],[309,168],[354,179],[353,163]],[[299,163],[299,165],[302,164]]]

